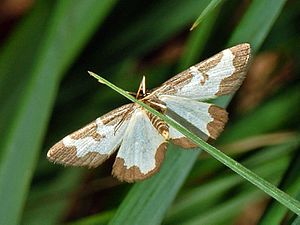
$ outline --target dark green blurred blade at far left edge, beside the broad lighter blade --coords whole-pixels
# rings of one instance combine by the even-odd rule
[[[38,46],[42,41],[41,35],[36,34],[45,33],[51,7],[51,4],[46,1],[37,4],[32,12],[21,21],[1,49],[0,160],[5,154],[3,145],[7,139],[7,131],[17,114],[15,106],[19,104],[20,97],[23,94],[22,90],[28,85],[31,68],[38,54]],[[16,62],[18,62],[18,66],[15,65]]]

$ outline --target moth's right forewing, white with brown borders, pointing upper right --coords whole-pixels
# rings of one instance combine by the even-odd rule
[[[172,77],[155,94],[203,101],[233,93],[245,78],[249,59],[247,43],[225,49]]]

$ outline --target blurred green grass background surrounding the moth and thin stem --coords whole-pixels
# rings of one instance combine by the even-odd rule
[[[227,46],[249,42],[261,57],[254,56],[253,77],[241,89],[247,95],[229,105],[217,144],[293,131],[280,144],[246,146],[234,157],[299,199],[300,4],[222,1],[189,32],[209,3],[35,1],[0,48],[0,224],[297,223],[200,150],[170,146],[161,172],[134,185],[110,177],[113,160],[95,170],[46,160],[57,140],[126,102],[87,70],[132,91],[147,75],[153,88]],[[277,60],[270,63],[270,55]],[[264,74],[269,67],[272,73]],[[242,101],[258,93],[243,110]]]

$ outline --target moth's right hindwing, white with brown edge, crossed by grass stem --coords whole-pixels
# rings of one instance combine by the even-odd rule
[[[227,112],[213,104],[170,95],[163,95],[160,99],[167,105],[167,116],[188,127],[204,140],[216,139],[228,120]],[[196,147],[173,127],[169,128],[169,135],[170,139],[181,147]]]

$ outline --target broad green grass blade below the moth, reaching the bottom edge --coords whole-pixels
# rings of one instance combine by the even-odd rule
[[[164,212],[175,198],[198,154],[199,151],[196,150],[185,154],[181,149],[169,147],[166,155],[168,160],[162,165],[160,172],[132,187],[126,196],[128,200],[121,205],[122,210],[117,211],[109,224],[160,224]],[[192,163],[185,164],[187,160]],[[181,170],[184,167],[187,169]],[[170,173],[172,176],[168,176]],[[163,199],[163,202],[159,199]]]

